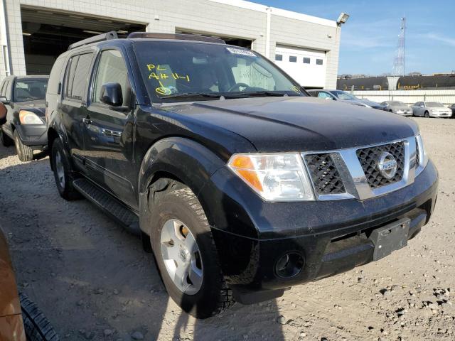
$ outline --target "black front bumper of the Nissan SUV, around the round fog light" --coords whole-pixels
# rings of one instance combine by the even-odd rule
[[[281,296],[290,286],[373,261],[374,245],[368,235],[385,224],[407,217],[409,238],[414,237],[434,209],[437,179],[429,161],[414,183],[381,197],[264,202],[222,168],[199,197],[208,211],[228,285],[237,301],[254,303]],[[210,202],[206,195],[212,197]],[[304,266],[296,276],[280,278],[277,260],[290,251],[303,257]]]

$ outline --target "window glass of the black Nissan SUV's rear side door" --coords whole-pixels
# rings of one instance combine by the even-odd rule
[[[65,98],[80,101],[87,86],[93,53],[75,55],[70,58],[65,72]]]

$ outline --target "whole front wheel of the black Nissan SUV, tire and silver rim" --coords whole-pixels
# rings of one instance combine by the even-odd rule
[[[189,188],[169,189],[151,206],[151,246],[169,296],[196,318],[229,308],[232,291],[196,195]]]

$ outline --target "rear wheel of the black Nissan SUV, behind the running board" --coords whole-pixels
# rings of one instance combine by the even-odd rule
[[[68,153],[63,148],[63,143],[60,139],[55,139],[53,142],[50,157],[53,165],[55,185],[57,185],[60,197],[63,197],[65,200],[79,199],[80,193],[73,187],[75,173],[73,172]]]

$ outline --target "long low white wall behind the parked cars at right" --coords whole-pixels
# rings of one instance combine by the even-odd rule
[[[415,102],[441,102],[448,106],[455,103],[455,90],[392,90],[392,91],[354,91],[356,97],[374,102],[401,101],[406,104]]]

